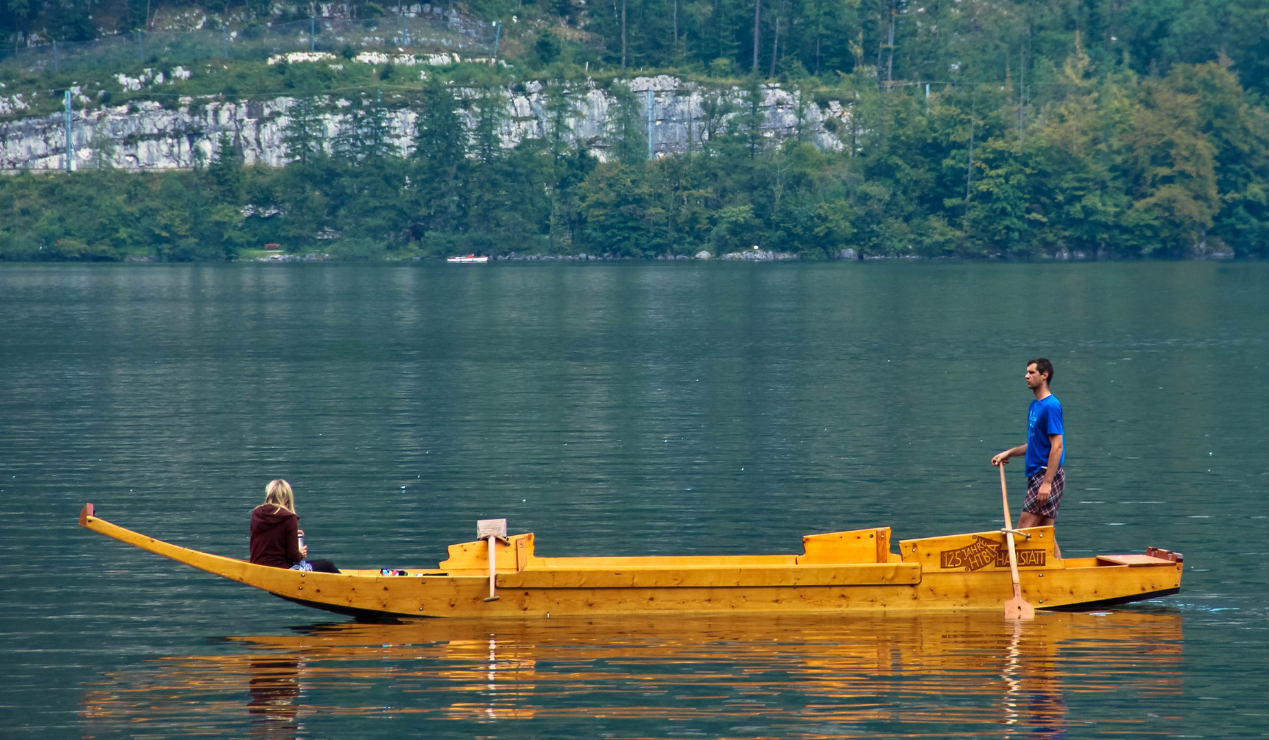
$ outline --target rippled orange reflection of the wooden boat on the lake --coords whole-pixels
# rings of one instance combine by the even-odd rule
[[[369,716],[454,736],[529,718],[548,736],[1122,736],[1180,694],[1180,640],[1179,616],[1145,612],[340,623],[108,674],[84,713],[100,734],[261,737],[404,729]]]

